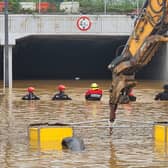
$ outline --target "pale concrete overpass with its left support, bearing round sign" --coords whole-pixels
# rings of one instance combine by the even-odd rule
[[[12,87],[12,46],[17,39],[33,35],[128,36],[133,22],[126,15],[9,15],[9,46],[8,58],[4,59],[4,78]],[[2,46],[5,44],[4,32],[4,16],[0,15]]]

